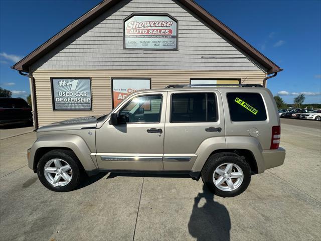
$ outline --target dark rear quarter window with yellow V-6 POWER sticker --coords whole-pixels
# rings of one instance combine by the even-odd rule
[[[232,122],[256,122],[266,120],[262,96],[258,93],[227,93]]]

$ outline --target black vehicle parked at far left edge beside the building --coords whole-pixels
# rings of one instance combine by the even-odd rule
[[[0,126],[32,124],[32,108],[23,98],[0,98]]]

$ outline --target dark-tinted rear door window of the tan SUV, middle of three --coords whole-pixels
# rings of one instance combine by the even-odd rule
[[[217,104],[214,93],[172,94],[171,123],[216,121]]]

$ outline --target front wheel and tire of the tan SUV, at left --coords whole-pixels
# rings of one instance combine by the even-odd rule
[[[59,163],[61,168],[59,168]],[[72,151],[52,150],[39,160],[38,178],[45,187],[52,191],[68,192],[75,189],[80,183],[80,165],[78,158]],[[56,170],[54,170],[55,168]]]

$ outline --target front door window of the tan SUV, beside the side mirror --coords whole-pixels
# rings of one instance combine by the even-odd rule
[[[161,94],[135,97],[119,111],[119,116],[126,116],[126,123],[158,123],[162,100]]]

